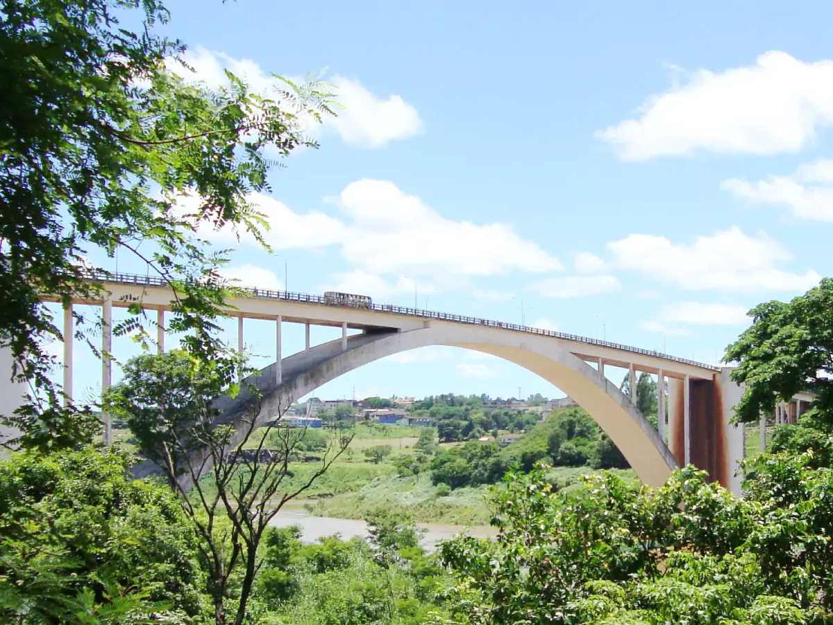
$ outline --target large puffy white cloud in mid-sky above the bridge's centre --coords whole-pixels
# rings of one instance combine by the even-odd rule
[[[394,183],[360,180],[337,203],[352,220],[342,255],[370,273],[492,276],[550,272],[561,263],[504,223],[478,225],[443,218]]]

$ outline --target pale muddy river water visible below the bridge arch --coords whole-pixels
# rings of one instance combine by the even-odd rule
[[[340,534],[342,540],[349,540],[354,536],[370,536],[367,523],[364,521],[354,518],[316,517],[303,507],[296,506],[282,509],[272,519],[271,524],[274,527],[300,526],[304,542],[315,542],[318,538],[332,536],[332,534]],[[465,531],[479,538],[491,538],[497,532],[496,527],[488,526],[464,527],[446,523],[417,523],[416,525],[425,532],[421,544],[427,551],[433,551],[437,542],[447,540],[459,532]]]

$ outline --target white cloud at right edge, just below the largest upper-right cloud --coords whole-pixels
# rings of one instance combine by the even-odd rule
[[[801,165],[791,176],[770,176],[750,183],[730,178],[721,189],[753,203],[786,206],[797,218],[833,222],[833,160]]]

